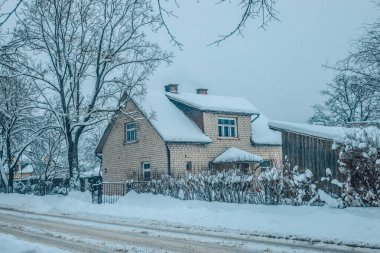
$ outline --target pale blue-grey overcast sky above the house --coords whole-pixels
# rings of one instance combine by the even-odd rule
[[[322,65],[344,58],[350,41],[380,11],[370,0],[279,0],[280,22],[265,31],[250,22],[244,38],[217,47],[207,44],[233,28],[239,8],[216,7],[211,0],[180,2],[178,19],[169,25],[183,51],[169,47],[173,64],[161,66],[149,86],[178,83],[180,91],[205,87],[209,94],[244,96],[270,119],[294,122],[307,121],[311,105],[322,101],[319,92],[334,75]]]

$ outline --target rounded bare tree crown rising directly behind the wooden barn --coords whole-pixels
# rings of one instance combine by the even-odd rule
[[[314,105],[311,123],[345,126],[348,122],[380,119],[380,90],[373,79],[339,74],[321,91],[322,105]]]

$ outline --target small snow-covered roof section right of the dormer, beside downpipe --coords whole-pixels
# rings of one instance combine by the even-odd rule
[[[252,141],[262,145],[281,145],[281,133],[269,128],[269,119],[262,113],[256,117],[252,116]]]

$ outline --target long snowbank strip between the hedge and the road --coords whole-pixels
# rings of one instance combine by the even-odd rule
[[[155,220],[164,224],[233,229],[255,234],[380,245],[380,208],[264,206],[182,201],[128,193],[116,204],[91,204],[90,193],[68,196],[0,194],[0,207],[42,213],[98,216],[100,219]]]

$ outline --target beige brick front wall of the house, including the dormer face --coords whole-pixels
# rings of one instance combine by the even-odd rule
[[[237,138],[218,137],[218,117],[236,118]],[[186,172],[186,163],[191,161],[193,169],[198,171],[207,168],[209,162],[230,147],[260,155],[264,159],[273,160],[275,166],[282,165],[281,146],[252,146],[251,117],[247,115],[231,115],[204,112],[204,132],[212,140],[207,145],[170,144],[171,167],[174,174]]]

